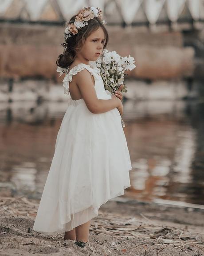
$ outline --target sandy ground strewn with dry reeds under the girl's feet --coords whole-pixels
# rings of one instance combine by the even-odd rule
[[[90,241],[81,248],[63,240],[63,232],[33,231],[38,205],[25,196],[0,197],[0,255],[204,255],[204,210],[110,200],[91,220]]]

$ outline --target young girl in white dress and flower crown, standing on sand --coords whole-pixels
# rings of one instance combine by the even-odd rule
[[[104,23],[102,10],[88,7],[65,29],[64,53],[56,63],[66,70],[68,108],[33,226],[45,234],[64,231],[64,240],[81,247],[98,208],[130,187],[132,169],[121,124],[122,93],[106,93],[94,65],[108,43]]]

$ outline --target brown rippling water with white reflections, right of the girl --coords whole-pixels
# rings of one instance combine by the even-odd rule
[[[169,113],[161,108],[162,114],[159,108],[163,105],[157,104],[151,115],[145,109],[144,117],[140,112],[136,121],[128,123],[126,135],[134,170],[126,195],[204,204],[204,129],[200,128],[204,104],[176,103]]]

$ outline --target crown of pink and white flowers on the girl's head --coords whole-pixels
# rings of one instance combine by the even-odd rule
[[[75,35],[78,33],[78,29],[81,29],[85,25],[88,25],[88,20],[93,19],[94,17],[98,17],[102,20],[103,24],[106,24],[106,21],[103,20],[102,18],[102,9],[100,8],[95,8],[94,6],[89,6],[89,7],[84,7],[81,9],[76,17],[75,17],[75,22],[68,24],[67,28],[65,28],[65,33],[64,33],[64,39],[69,39],[71,37],[71,34]],[[63,43],[61,45],[65,46],[67,43]]]

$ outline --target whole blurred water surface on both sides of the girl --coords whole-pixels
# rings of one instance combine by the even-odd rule
[[[0,195],[40,198],[66,102],[1,103]],[[126,196],[204,204],[204,104],[124,100]]]

